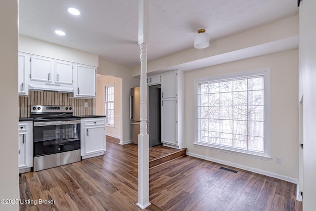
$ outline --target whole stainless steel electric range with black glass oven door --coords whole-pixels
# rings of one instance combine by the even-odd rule
[[[72,106],[32,105],[34,119],[33,171],[49,169],[81,160],[80,118]]]

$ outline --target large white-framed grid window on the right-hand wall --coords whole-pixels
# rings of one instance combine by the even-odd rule
[[[197,81],[196,143],[269,157],[269,80],[267,69]]]

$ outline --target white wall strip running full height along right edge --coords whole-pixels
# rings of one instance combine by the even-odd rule
[[[300,95],[303,95],[303,210],[315,210],[316,193],[316,1],[299,7]],[[297,101],[298,102],[298,101]]]

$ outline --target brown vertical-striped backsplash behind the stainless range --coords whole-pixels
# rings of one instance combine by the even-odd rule
[[[84,108],[84,103],[88,107]],[[73,106],[74,116],[93,115],[93,99],[70,98],[70,93],[52,91],[29,91],[28,96],[19,96],[19,117],[31,117],[31,105]]]

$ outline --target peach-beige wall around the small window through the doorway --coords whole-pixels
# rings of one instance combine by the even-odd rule
[[[106,134],[120,138],[122,111],[122,78],[104,76],[97,80],[96,115],[105,115],[105,86],[114,85],[114,127],[106,127]]]

